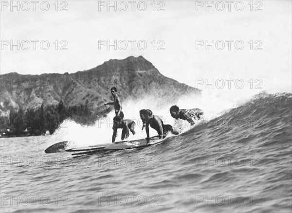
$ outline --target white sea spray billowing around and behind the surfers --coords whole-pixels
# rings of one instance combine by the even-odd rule
[[[169,101],[157,100],[157,97],[146,96],[141,100],[128,100],[122,102],[125,119],[133,120],[136,123],[133,136],[130,133],[129,140],[146,138],[145,129],[142,131],[142,120],[140,119],[139,111],[141,109],[151,109],[154,115],[163,116],[164,124],[171,124],[174,129],[179,132],[190,128],[190,124],[183,120],[175,120],[170,116],[169,108],[172,105],[178,105],[180,108],[201,108],[204,111],[204,118],[208,121],[219,116],[221,112],[234,108],[236,103],[222,98],[218,95],[212,95],[202,91],[201,96],[188,95],[182,96],[178,100]],[[167,98],[166,100],[169,100]],[[49,139],[49,144],[54,144],[61,141],[72,141],[74,146],[88,146],[94,144],[110,143],[112,138],[112,125],[114,111],[110,111],[107,117],[101,118],[93,125],[77,124],[71,119],[65,119],[62,124],[56,129],[55,133]],[[118,129],[116,142],[121,141],[122,129]],[[157,132],[149,128],[150,137],[157,135]]]

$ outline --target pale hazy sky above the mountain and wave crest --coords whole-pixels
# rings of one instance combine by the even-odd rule
[[[207,87],[215,93],[232,91],[238,94],[260,90],[291,92],[291,0],[262,0],[252,4],[250,0],[233,1],[230,5],[226,1],[208,1],[208,4],[214,4],[214,11],[211,6],[205,8],[205,1],[191,0],[144,1],[146,4],[135,1],[133,11],[130,1],[111,1],[117,5],[117,11],[114,7],[108,8],[108,1],[59,1],[58,11],[55,11],[55,0],[48,2],[50,8],[47,11],[43,11],[47,8],[43,1],[37,2],[34,11],[31,1],[19,1],[17,11],[17,7],[11,8],[10,1],[1,1],[1,74],[73,73],[110,59],[143,55],[165,76],[199,89]],[[17,1],[14,4],[17,5]],[[125,5],[128,8],[121,11]],[[145,5],[147,8],[142,11]],[[60,11],[61,8],[67,11]],[[158,11],[159,8],[164,11]],[[17,45],[11,47],[11,41],[17,43],[17,40],[19,50]],[[30,48],[24,40],[29,41]],[[36,50],[32,40],[38,40]],[[43,40],[50,44],[48,50],[40,48]],[[58,50],[55,50],[55,40]],[[128,48],[123,50],[125,43],[120,42],[120,48],[117,45],[114,50],[114,46],[110,46],[108,50],[107,45],[99,46],[101,40],[107,43],[108,40],[111,43],[125,40]],[[133,50],[128,40],[136,40]],[[147,44],[145,50],[142,50],[145,42],[140,43],[140,49],[137,46],[141,40]],[[199,40],[204,43],[214,40],[214,50],[212,46],[205,50],[204,44],[196,48]],[[224,48],[219,40],[224,42]],[[226,40],[233,40],[230,50]],[[242,43],[243,49],[237,50]],[[67,50],[60,50],[65,44]],[[42,45],[46,48],[46,43]],[[161,45],[164,50],[158,50]],[[26,48],[28,50],[24,50]],[[214,79],[215,89],[200,79],[211,83]],[[222,85],[218,79],[223,79],[223,89],[218,88]],[[231,89],[225,79],[233,79]],[[235,88],[237,79],[244,82],[243,89]],[[240,81],[237,82],[239,87]],[[256,85],[262,89],[255,89]]]

